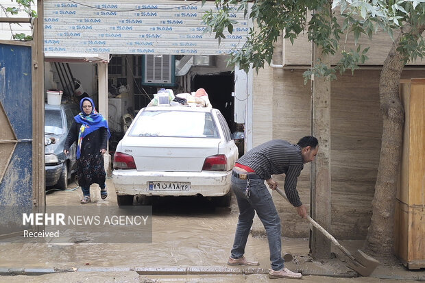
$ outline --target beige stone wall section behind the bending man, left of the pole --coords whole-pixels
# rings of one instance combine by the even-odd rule
[[[304,85],[302,70],[273,70],[272,138],[281,138],[291,143],[297,143],[303,136],[311,134],[311,86],[309,83]],[[283,188],[284,175],[274,177],[280,188]],[[304,166],[304,170],[298,178],[298,193],[301,201],[308,208],[310,206],[310,164]],[[282,221],[282,235],[308,236],[308,227],[298,217],[295,208],[282,199],[278,193],[273,193],[273,197]]]

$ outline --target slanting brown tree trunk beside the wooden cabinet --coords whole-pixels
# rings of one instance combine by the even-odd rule
[[[422,34],[423,28],[417,29],[417,34]],[[379,97],[383,114],[383,136],[372,201],[372,221],[363,247],[367,254],[379,259],[383,264],[391,264],[394,260],[394,208],[404,124],[404,108],[398,88],[404,67],[404,57],[397,51],[401,34],[394,40],[380,73]]]

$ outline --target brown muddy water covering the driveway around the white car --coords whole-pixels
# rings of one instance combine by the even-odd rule
[[[85,206],[117,205],[112,182],[108,181],[108,199],[101,200],[98,186],[93,185],[93,202]],[[47,204],[77,206],[80,197],[80,189],[53,191],[47,195]],[[152,220],[152,243],[0,244],[0,267],[226,266],[236,210],[215,208],[204,198],[169,197],[154,203]],[[247,251],[254,257],[256,251],[267,248],[267,243],[258,238],[249,241]]]

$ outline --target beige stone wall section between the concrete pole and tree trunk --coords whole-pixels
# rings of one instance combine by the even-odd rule
[[[331,227],[339,238],[363,238],[372,216],[380,155],[380,71],[339,76],[331,88]]]

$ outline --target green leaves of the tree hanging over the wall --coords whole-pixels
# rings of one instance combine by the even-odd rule
[[[206,32],[215,33],[219,43],[237,23],[230,12],[243,11],[245,18],[255,23],[243,47],[234,49],[228,60],[228,65],[238,65],[246,72],[250,68],[258,72],[265,62],[271,63],[280,35],[293,43],[300,34],[307,34],[325,55],[339,54],[341,59],[332,68],[315,62],[304,73],[305,82],[311,75],[335,79],[336,71],[359,69],[369,50],[361,48],[359,39],[372,39],[378,31],[387,32],[390,38],[395,31],[404,33],[398,44],[404,62],[423,58],[425,53],[424,40],[417,34],[417,27],[425,25],[425,0],[216,0],[215,5],[217,10],[206,12],[203,20]],[[346,46],[349,35],[355,48]]]

